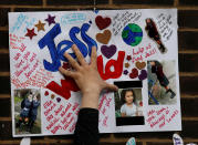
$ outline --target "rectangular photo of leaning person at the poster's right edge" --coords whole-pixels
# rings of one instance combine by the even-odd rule
[[[147,62],[148,104],[171,105],[177,103],[175,61]]]

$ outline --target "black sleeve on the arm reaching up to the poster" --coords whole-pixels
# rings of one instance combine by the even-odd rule
[[[98,111],[81,108],[74,132],[75,145],[98,145]]]

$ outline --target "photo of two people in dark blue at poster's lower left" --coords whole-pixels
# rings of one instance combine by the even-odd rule
[[[41,134],[40,90],[14,90],[15,135]]]

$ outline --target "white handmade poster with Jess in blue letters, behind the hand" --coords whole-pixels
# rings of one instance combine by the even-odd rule
[[[180,131],[176,9],[10,12],[12,133],[73,134],[81,92],[59,68],[97,48],[100,133]],[[127,95],[133,96],[127,101]]]

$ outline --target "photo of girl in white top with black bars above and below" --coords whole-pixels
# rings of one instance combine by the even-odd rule
[[[142,81],[114,82],[116,125],[144,125]]]

